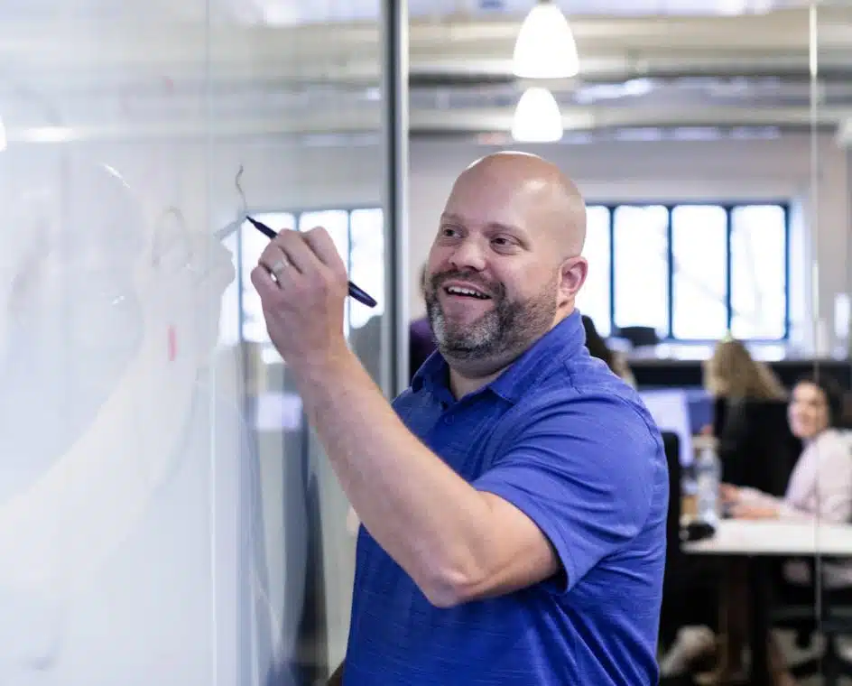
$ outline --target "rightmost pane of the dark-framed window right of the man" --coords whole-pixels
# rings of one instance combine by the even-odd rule
[[[735,208],[731,223],[731,331],[736,338],[783,338],[784,209],[777,205]]]

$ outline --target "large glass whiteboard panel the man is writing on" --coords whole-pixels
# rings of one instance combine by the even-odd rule
[[[380,4],[171,5],[0,7],[4,684],[302,686],[345,652],[353,523],[243,218],[329,229],[378,378]]]

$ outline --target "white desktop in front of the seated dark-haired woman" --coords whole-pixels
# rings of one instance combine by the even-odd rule
[[[684,542],[692,555],[803,555],[852,558],[852,524],[723,519],[716,535]]]

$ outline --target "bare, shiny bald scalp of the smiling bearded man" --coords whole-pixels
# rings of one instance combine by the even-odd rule
[[[458,176],[450,200],[457,191],[477,188],[513,205],[513,213],[523,219],[519,223],[544,232],[562,259],[582,252],[586,203],[575,183],[552,162],[531,153],[486,155]]]

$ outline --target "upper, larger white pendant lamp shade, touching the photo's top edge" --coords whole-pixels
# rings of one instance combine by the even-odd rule
[[[535,5],[514,43],[513,70],[522,79],[570,79],[579,73],[574,34],[551,0]]]

